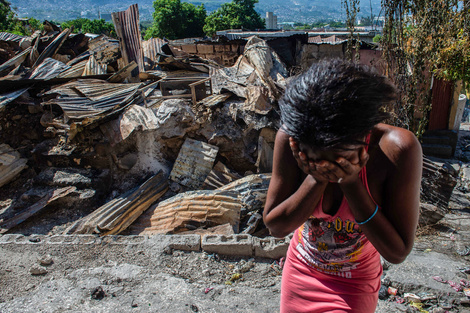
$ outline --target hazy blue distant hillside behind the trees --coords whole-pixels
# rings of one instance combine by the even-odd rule
[[[39,20],[65,21],[79,17],[98,18],[99,12],[110,13],[125,10],[130,4],[138,3],[141,20],[151,20],[153,0],[10,0],[17,8],[20,17],[34,17]],[[208,12],[214,11],[227,0],[207,0],[187,2],[195,5],[204,4]],[[361,1],[359,16],[370,15],[370,4],[373,13],[380,12],[380,0]],[[344,20],[345,13],[341,0],[259,0],[257,11],[262,17],[266,12],[274,12],[278,22],[311,23],[319,20]]]

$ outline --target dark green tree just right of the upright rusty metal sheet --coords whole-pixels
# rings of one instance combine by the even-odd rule
[[[204,35],[207,13],[203,4],[195,6],[180,0],[155,0],[153,7],[153,24],[145,32],[145,39],[179,39]]]

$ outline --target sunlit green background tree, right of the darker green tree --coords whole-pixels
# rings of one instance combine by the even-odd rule
[[[258,0],[232,0],[224,3],[206,18],[204,32],[213,36],[224,29],[264,29],[264,19],[255,11]]]

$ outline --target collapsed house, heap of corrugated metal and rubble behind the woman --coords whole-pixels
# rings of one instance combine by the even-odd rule
[[[112,16],[119,40],[0,33],[0,233],[267,236],[277,101],[335,45],[142,41],[137,5]],[[426,164],[435,223],[456,174]]]

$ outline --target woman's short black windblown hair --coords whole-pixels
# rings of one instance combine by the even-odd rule
[[[382,110],[396,89],[372,68],[333,59],[313,64],[295,77],[279,102],[284,131],[313,147],[361,144],[388,118]]]

